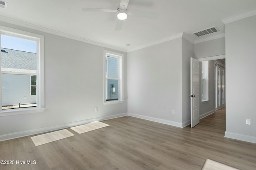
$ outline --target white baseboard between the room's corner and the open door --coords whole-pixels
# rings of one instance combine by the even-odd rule
[[[175,121],[169,121],[169,120],[159,119],[159,118],[155,118],[155,117],[138,115],[138,114],[134,114],[134,113],[127,113],[127,115],[131,116],[131,117],[137,117],[137,118],[140,118],[140,119],[145,119],[145,120],[149,120],[149,121],[163,123],[163,124],[166,124],[166,125],[171,125],[171,126],[176,126],[176,127],[181,127],[181,128],[183,127],[182,123],[175,122]]]

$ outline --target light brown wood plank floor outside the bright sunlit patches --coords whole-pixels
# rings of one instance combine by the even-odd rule
[[[224,138],[225,108],[178,128],[134,117],[110,126],[34,146],[28,137],[0,142],[0,160],[36,160],[0,170],[200,170],[206,158],[238,169],[256,169],[256,144]]]

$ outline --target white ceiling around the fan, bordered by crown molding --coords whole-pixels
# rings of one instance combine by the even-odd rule
[[[216,26],[223,35],[222,19],[256,10],[256,0],[130,0],[128,10],[158,13],[156,20],[128,16],[115,31],[116,13],[83,12],[82,8],[117,9],[119,0],[4,0],[0,20],[22,21],[56,33],[64,33],[93,43],[132,51],[186,33],[192,42],[194,32]],[[24,24],[23,24],[24,25]],[[130,44],[130,46],[126,46]]]

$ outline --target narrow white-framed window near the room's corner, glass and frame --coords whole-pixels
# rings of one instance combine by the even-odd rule
[[[123,55],[104,51],[104,105],[123,103]]]

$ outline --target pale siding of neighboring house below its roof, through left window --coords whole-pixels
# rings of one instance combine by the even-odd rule
[[[2,106],[35,104],[30,88],[30,75],[2,74]]]

